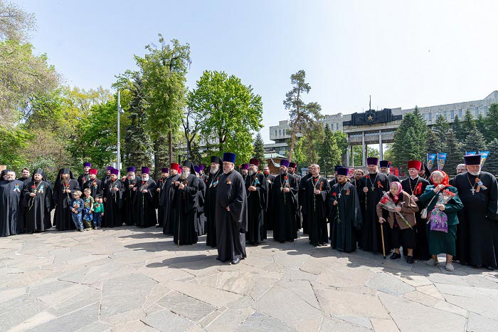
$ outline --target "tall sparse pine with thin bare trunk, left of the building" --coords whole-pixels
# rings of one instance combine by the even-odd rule
[[[289,160],[292,160],[292,150],[294,150],[297,133],[305,133],[316,127],[319,120],[323,118],[320,113],[322,107],[318,103],[306,104],[302,100],[302,95],[311,90],[311,85],[304,81],[305,78],[306,73],[303,70],[292,74],[290,76],[292,90],[285,94],[284,106],[286,110],[289,110],[289,125],[292,128]]]

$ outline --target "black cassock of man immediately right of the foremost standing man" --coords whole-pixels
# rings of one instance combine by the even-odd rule
[[[250,192],[249,187],[256,187]],[[265,211],[268,204],[268,183],[260,173],[248,175],[245,179],[245,192],[248,199],[248,232],[245,239],[250,244],[259,244],[266,239]]]

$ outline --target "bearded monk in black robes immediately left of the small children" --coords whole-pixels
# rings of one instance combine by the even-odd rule
[[[59,170],[53,187],[55,229],[58,231],[76,228],[71,217],[70,203],[73,199],[73,193],[77,190],[80,190],[80,185],[75,180],[73,172],[68,168]]]

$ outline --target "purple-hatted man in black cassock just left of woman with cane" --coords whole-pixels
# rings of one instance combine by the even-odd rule
[[[381,200],[383,192],[388,192],[387,176],[378,172],[378,158],[366,158],[369,174],[364,177],[366,209],[361,227],[361,249],[364,251],[382,252],[381,224],[378,223],[377,203]],[[391,251],[391,229],[383,227],[384,247],[386,254]]]

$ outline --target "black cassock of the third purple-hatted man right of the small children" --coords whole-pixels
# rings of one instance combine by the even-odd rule
[[[156,182],[149,178],[147,181],[137,183],[137,194],[135,195],[135,206],[137,207],[137,226],[151,227],[156,226],[156,204],[154,196],[156,192]],[[147,192],[142,192],[147,190]]]

